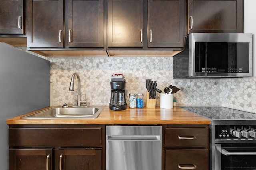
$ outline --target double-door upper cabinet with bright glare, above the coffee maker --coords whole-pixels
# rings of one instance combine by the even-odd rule
[[[184,10],[184,0],[108,0],[108,47],[182,48]]]

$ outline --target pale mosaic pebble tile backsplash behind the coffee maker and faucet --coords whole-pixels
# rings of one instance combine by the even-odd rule
[[[26,47],[17,47],[26,51]],[[30,51],[27,51],[32,53]],[[37,55],[37,54],[34,54]],[[37,55],[42,57],[40,55]],[[81,99],[91,105],[110,102],[109,77],[115,73],[126,78],[129,93],[146,93],[146,79],[157,80],[157,88],[172,84],[181,90],[174,94],[177,105],[224,106],[256,113],[256,77],[234,79],[173,79],[172,57],[43,57],[51,62],[52,105],[76,105],[77,87],[68,91],[77,72],[81,80]],[[159,94],[156,97],[159,106]]]

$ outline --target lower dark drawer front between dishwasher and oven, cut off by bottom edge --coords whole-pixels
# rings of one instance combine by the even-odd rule
[[[167,149],[165,170],[209,170],[208,155],[208,149]]]

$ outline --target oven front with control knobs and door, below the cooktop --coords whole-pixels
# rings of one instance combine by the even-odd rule
[[[214,125],[215,170],[256,170],[256,125],[253,124]]]

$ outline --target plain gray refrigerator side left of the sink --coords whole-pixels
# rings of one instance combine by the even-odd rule
[[[6,119],[50,106],[50,62],[0,43],[0,165],[8,170]]]

